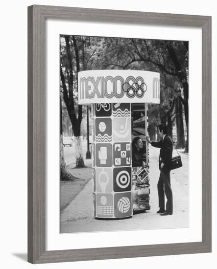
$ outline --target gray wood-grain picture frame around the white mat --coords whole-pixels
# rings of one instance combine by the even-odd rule
[[[202,242],[46,251],[46,20],[202,29]],[[211,17],[33,5],[28,7],[28,262],[53,263],[211,252]]]

